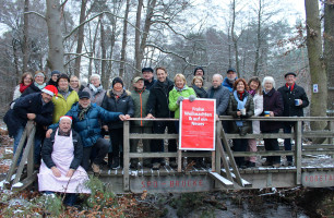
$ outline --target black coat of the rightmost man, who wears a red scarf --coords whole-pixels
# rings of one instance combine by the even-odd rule
[[[283,98],[284,102],[284,117],[303,117],[303,108],[309,106],[309,99],[305,89],[297,84],[295,84],[293,92],[288,87],[282,86],[277,89]],[[302,104],[300,106],[295,105],[295,99],[301,99]]]

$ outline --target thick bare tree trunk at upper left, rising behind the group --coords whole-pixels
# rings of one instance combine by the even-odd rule
[[[63,44],[61,32],[61,15],[59,0],[46,0],[46,22],[48,26],[49,53],[48,68],[64,72],[63,68]]]

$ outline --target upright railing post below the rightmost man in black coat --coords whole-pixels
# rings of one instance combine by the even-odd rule
[[[297,121],[295,123],[295,162],[296,162],[296,184],[301,184],[301,123]]]

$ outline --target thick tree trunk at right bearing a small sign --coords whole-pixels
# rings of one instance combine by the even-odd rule
[[[307,47],[309,55],[309,65],[311,83],[318,84],[319,92],[312,94],[311,116],[324,117],[327,108],[327,76],[322,52],[322,34],[319,17],[319,1],[305,0],[306,22],[307,22]],[[323,130],[325,122],[311,122],[312,130]]]

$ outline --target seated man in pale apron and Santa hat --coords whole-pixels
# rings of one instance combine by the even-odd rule
[[[60,118],[59,128],[46,138],[41,148],[41,165],[38,173],[38,189],[51,194],[67,193],[64,204],[73,206],[76,193],[91,193],[85,186],[86,171],[80,167],[83,146],[80,135],[71,130],[72,118]]]

